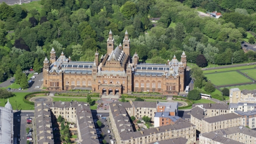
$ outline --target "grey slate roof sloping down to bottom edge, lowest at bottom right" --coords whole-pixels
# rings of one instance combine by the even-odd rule
[[[222,135],[219,135],[217,133],[214,132],[207,132],[207,133],[201,133],[200,136],[205,137],[205,138],[209,138],[213,141],[217,141],[223,144],[241,144],[242,142],[239,141],[235,141],[226,137],[223,137]]]

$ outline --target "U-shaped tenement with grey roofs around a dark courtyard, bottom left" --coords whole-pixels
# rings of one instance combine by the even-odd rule
[[[53,141],[52,124],[57,124],[57,117],[62,116],[66,122],[77,126],[79,144],[99,143],[93,123],[90,106],[83,102],[35,102],[35,123],[37,143],[51,144]]]

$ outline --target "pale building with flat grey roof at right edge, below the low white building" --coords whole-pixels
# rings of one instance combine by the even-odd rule
[[[251,129],[255,129],[255,119],[256,119],[256,110],[253,111],[234,111],[235,114],[242,116],[242,124],[243,126],[249,126]]]

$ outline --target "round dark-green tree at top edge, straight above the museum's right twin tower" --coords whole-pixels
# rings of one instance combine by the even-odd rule
[[[121,7],[121,12],[124,14],[126,18],[131,18],[135,13],[137,13],[136,4],[133,2],[126,2]]]

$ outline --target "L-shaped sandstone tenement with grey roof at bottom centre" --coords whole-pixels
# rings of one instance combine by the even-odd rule
[[[115,134],[116,143],[146,144],[179,137],[196,141],[195,125],[189,122],[159,126],[143,131],[135,131],[135,127],[130,121],[127,111],[120,102],[110,103],[109,119],[113,128],[113,133]]]

